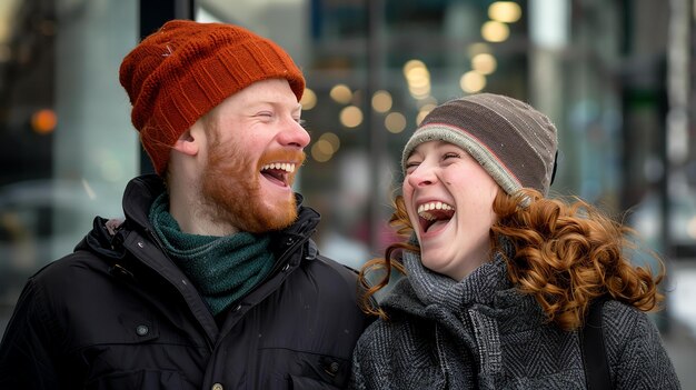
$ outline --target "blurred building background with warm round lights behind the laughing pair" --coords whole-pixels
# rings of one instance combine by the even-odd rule
[[[322,214],[321,250],[340,261],[359,267],[395,239],[399,154],[422,116],[479,91],[555,121],[554,192],[632,210],[660,252],[694,254],[693,1],[3,0],[0,261],[21,270],[0,280],[7,301],[95,213],[119,217],[126,182],[151,171],[118,67],[172,18],[245,26],[302,68],[312,142],[297,187]],[[66,184],[79,194],[63,207]],[[39,242],[50,251],[26,254]]]

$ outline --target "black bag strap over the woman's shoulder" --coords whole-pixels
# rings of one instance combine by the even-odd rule
[[[585,381],[589,390],[610,390],[609,363],[601,331],[601,307],[606,298],[598,298],[589,306],[589,313],[580,331],[580,350],[585,367]]]

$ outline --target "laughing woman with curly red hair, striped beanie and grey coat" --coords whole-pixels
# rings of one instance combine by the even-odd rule
[[[404,149],[391,218],[410,239],[361,271],[365,309],[380,319],[356,347],[355,388],[584,389],[578,330],[598,299],[613,387],[679,388],[645,313],[664,268],[632,266],[630,231],[588,203],[547,198],[556,151],[548,118],[508,97],[426,117]],[[392,268],[406,278],[377,307]]]

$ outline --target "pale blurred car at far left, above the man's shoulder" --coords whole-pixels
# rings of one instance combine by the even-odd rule
[[[103,184],[30,180],[0,188],[0,303],[11,304],[27,278],[69,252],[95,216],[122,214]]]

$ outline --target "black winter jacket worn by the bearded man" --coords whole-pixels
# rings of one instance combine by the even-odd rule
[[[29,279],[0,344],[0,389],[345,387],[369,320],[355,271],[310,240],[319,214],[298,206],[274,233],[271,274],[216,321],[152,233],[162,191],[156,176],[133,179],[116,234],[97,218],[74,253]]]

